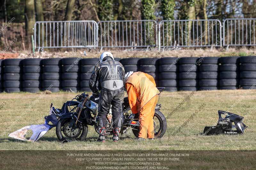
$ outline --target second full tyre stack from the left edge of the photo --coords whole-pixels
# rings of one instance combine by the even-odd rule
[[[41,88],[41,61],[40,58],[22,60],[22,91],[39,92]]]

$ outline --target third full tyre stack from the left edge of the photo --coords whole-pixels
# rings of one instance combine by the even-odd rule
[[[60,58],[42,60],[42,90],[60,91]]]

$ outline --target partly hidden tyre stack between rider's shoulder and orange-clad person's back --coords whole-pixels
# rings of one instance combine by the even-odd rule
[[[124,71],[139,71],[139,58],[124,58],[120,60],[120,63],[124,66]]]

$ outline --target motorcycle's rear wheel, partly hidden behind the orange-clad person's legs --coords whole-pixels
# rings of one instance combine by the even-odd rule
[[[155,132],[154,138],[163,137],[164,133],[166,131],[166,128],[167,128],[167,122],[164,117],[164,114],[162,112],[160,112],[159,110],[155,109],[155,114],[154,114],[153,120],[154,120],[154,132]],[[135,126],[132,129],[132,132],[135,137],[139,136],[139,131],[140,131],[139,126]]]

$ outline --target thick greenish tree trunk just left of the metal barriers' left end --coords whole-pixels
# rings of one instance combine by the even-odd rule
[[[34,0],[26,0],[25,6],[25,18],[26,18],[26,35],[29,37],[33,35],[35,24],[35,5]]]

